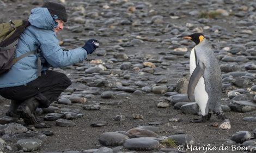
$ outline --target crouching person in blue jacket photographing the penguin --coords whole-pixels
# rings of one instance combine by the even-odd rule
[[[81,62],[96,49],[92,42],[97,40],[90,39],[82,47],[62,50],[56,35],[67,20],[64,5],[56,2],[46,1],[42,7],[31,10],[28,19],[31,25],[22,32],[14,56],[32,50],[38,52],[22,58],[0,75],[0,95],[11,100],[6,112],[9,117],[23,118],[27,125],[38,124],[36,108],[50,106],[71,85],[65,74],[48,69]]]

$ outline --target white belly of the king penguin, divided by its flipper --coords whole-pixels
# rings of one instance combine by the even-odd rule
[[[194,54],[194,48],[191,50],[190,53],[190,75],[192,75],[194,69],[196,69],[196,57]],[[207,106],[207,102],[208,102],[208,93],[206,93],[205,90],[205,82],[204,82],[204,78],[203,76],[200,77],[196,88],[194,89],[194,99],[196,100],[198,106],[201,109],[201,113],[202,115],[206,115],[206,106]]]

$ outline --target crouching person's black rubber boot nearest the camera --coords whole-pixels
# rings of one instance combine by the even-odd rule
[[[23,118],[26,125],[39,124],[39,119],[35,117],[35,110],[39,106],[39,101],[31,97],[21,103],[17,109],[20,118]]]

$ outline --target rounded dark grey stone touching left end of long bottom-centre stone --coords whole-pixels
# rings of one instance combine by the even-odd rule
[[[122,145],[127,139],[129,139],[128,136],[118,132],[105,132],[100,135],[99,142],[103,146],[118,146]]]

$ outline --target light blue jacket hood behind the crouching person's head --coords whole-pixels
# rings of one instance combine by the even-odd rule
[[[54,29],[57,27],[47,8],[32,9],[28,21],[32,26],[40,29]]]

